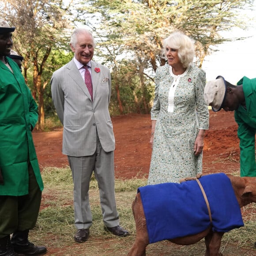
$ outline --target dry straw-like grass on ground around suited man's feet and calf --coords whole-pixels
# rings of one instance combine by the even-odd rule
[[[87,242],[77,244],[73,241],[74,212],[73,184],[70,169],[46,168],[43,173],[45,189],[37,226],[30,232],[30,240],[38,245],[46,245],[47,255],[61,256],[120,256],[126,255],[136,237],[136,227],[132,215],[132,201],[137,188],[146,184],[146,179],[116,181],[116,200],[120,214],[120,224],[127,228],[131,235],[115,237],[103,229],[102,213],[99,203],[97,181],[90,183],[90,206],[93,214],[93,225]],[[224,255],[256,255],[253,244],[256,240],[256,206],[251,204],[242,209],[246,212],[245,226],[226,233],[222,239],[221,251]],[[204,255],[204,241],[195,245],[179,246],[169,241],[148,245],[149,256],[198,256]]]

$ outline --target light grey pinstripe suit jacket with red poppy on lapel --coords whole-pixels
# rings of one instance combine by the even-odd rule
[[[100,72],[96,72],[99,68]],[[53,103],[64,126],[62,153],[88,156],[96,150],[96,131],[105,152],[115,149],[109,115],[111,76],[108,68],[91,60],[93,102],[72,59],[56,70],[51,79]]]

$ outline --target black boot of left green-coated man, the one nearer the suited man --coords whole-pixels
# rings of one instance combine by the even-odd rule
[[[12,246],[16,253],[23,254],[25,256],[43,255],[47,252],[45,246],[37,246],[30,241],[26,245],[12,244]]]

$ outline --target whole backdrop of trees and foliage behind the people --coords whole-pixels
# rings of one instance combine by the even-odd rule
[[[51,76],[73,57],[69,48],[72,28],[87,26],[97,42],[94,60],[111,70],[110,112],[116,115],[149,113],[155,71],[166,63],[161,56],[163,38],[174,30],[191,36],[196,45],[196,64],[201,66],[213,45],[233,40],[223,38],[223,31],[249,26],[240,11],[249,9],[253,2],[5,0],[0,2],[0,15],[16,26],[14,49],[24,56],[26,83],[46,117],[55,114]]]

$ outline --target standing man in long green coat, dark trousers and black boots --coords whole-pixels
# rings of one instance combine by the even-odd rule
[[[8,58],[14,30],[0,19],[0,256],[42,255],[46,248],[28,241],[43,189],[31,134],[38,107],[18,65]]]

